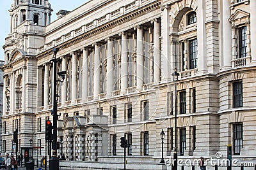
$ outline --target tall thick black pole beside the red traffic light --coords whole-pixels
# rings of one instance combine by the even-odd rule
[[[53,140],[52,140],[52,157],[49,160],[49,169],[50,170],[59,170],[60,169],[60,160],[57,157],[57,60],[56,54],[58,48],[53,49],[53,99],[52,99],[52,108],[53,108]]]

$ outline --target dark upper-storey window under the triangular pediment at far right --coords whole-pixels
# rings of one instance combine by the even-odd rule
[[[243,58],[247,56],[247,36],[246,36],[247,27],[239,28],[239,58]]]

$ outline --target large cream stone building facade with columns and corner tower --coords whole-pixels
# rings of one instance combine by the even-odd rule
[[[19,147],[31,138],[47,154],[58,47],[58,71],[67,71],[57,85],[62,167],[120,169],[125,136],[127,169],[171,169],[175,113],[185,169],[188,159],[227,158],[227,145],[232,159],[256,163],[255,9],[254,0],[92,0],[51,23],[49,1],[13,1],[2,152],[17,128]]]

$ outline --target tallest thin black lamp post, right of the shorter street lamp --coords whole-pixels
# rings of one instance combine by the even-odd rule
[[[178,169],[178,154],[177,154],[177,81],[179,77],[179,73],[177,73],[177,69],[174,69],[173,81],[175,82],[175,141],[174,141],[174,152],[173,152],[173,162],[174,162],[174,170]]]

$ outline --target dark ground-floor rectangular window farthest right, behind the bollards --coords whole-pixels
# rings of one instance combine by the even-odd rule
[[[234,155],[239,155],[243,148],[243,124],[234,124],[233,128]]]

